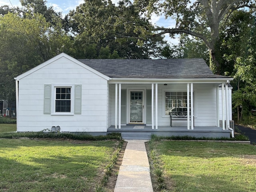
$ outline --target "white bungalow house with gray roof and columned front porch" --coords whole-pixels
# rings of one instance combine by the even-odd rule
[[[15,79],[18,132],[233,133],[226,86],[233,79],[214,75],[203,59],[77,60],[62,53]]]

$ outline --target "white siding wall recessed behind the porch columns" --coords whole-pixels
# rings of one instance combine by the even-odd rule
[[[122,84],[122,89],[144,89],[151,90],[151,84]],[[164,91],[186,92],[187,84],[158,84],[158,126],[170,126],[170,116],[165,115],[164,112]],[[115,124],[115,97],[114,88],[111,89],[111,105],[112,118],[111,124]],[[155,90],[154,90],[155,91]],[[128,91],[127,91],[128,93]],[[146,92],[145,92],[146,94]],[[129,96],[128,96],[129,99]],[[155,97],[154,97],[155,99]],[[144,103],[144,106],[146,103]],[[216,87],[212,84],[194,84],[194,124],[195,126],[216,126]],[[147,110],[147,109],[146,109]],[[155,114],[155,100],[154,100],[154,114]],[[145,113],[146,115],[146,113]],[[154,116],[155,122],[155,116]],[[187,126],[186,120],[173,120],[173,126]],[[146,122],[151,124],[151,122]]]

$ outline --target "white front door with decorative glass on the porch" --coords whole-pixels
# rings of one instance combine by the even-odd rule
[[[144,123],[144,90],[129,91],[129,123]]]

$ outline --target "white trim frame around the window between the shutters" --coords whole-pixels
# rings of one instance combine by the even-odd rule
[[[71,108],[70,112],[55,112],[55,101],[56,101],[56,87],[70,87],[71,88]],[[51,115],[74,115],[74,101],[75,101],[75,84],[52,84],[52,106]]]

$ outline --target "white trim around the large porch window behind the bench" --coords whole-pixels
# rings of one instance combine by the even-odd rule
[[[166,88],[162,89],[162,117],[170,118],[170,115],[165,114],[165,92],[187,92],[186,88],[178,89],[178,88]],[[194,117],[197,116],[197,103],[196,103],[196,96],[195,96],[196,89],[193,90],[194,96]]]

